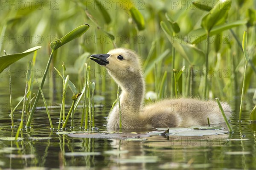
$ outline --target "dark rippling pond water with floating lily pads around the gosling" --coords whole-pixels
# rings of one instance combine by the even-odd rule
[[[5,100],[3,100],[5,99]],[[9,102],[8,91],[1,90],[1,103]],[[112,99],[111,99],[112,102]],[[68,104],[68,103],[67,103]],[[2,169],[249,169],[256,168],[256,124],[250,123],[249,111],[237,122],[234,112],[233,134],[213,136],[150,136],[127,139],[73,138],[50,130],[45,109],[35,112],[32,127],[25,128],[12,141],[20,123],[20,111],[15,112],[15,129],[11,129],[8,110],[1,106],[0,167]],[[96,108],[95,125],[103,133],[109,108]],[[54,127],[58,126],[59,108],[50,109]],[[81,108],[76,111],[73,129],[80,129]],[[126,132],[147,133],[153,128]],[[123,131],[125,132],[125,131]],[[71,155],[70,155],[71,153]],[[72,155],[73,153],[73,155]]]

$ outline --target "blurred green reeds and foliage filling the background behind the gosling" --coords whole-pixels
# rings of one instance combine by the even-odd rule
[[[46,83],[50,83],[49,91],[54,88],[58,91],[58,88],[62,87],[62,80],[52,70],[53,66],[61,70],[64,62],[67,68],[66,74],[71,75],[70,80],[81,90],[84,81],[83,63],[89,62],[87,57],[91,54],[107,53],[115,47],[124,47],[137,51],[143,63],[146,62],[143,68],[145,68],[147,91],[156,92],[158,98],[174,97],[173,69],[179,71],[183,68],[183,74],[177,80],[178,95],[201,97],[204,88],[204,72],[201,70],[204,69],[206,40],[202,39],[194,44],[192,41],[200,35],[196,30],[201,28],[201,20],[208,11],[197,8],[193,2],[195,1],[1,0],[1,55],[4,55],[3,50],[13,54],[41,45],[35,64],[35,77],[40,80],[51,51],[50,42],[87,23],[90,25],[89,30],[80,38],[58,49],[58,53],[54,56],[49,75],[51,80]],[[200,2],[213,7],[218,1]],[[227,9],[228,15],[224,17],[223,22],[216,24],[218,26],[225,22],[240,22],[238,26],[232,28],[233,34],[227,29],[211,35],[207,88],[209,98],[219,97],[221,100],[234,102],[240,97],[245,63],[241,43],[245,30],[248,33],[247,51],[250,57],[246,71],[245,94],[249,101],[253,99],[253,95],[255,98],[255,6],[254,0],[232,1],[231,7]],[[175,42],[167,38],[160,26],[161,21],[170,28],[169,31],[176,45],[185,44],[183,49],[176,48],[174,64]],[[177,23],[180,31],[175,33],[171,27],[172,23]],[[182,54],[184,49],[187,50],[186,54],[189,54],[187,56],[189,61]],[[32,54],[11,65],[14,98],[23,96],[20,86],[23,87],[23,84],[25,86],[24,72],[27,62],[31,59]],[[93,69],[99,69],[99,66],[93,62],[90,65]],[[196,73],[193,79],[190,73]],[[54,78],[55,76],[57,78]],[[102,90],[103,80],[99,74],[97,76],[92,74],[92,82],[96,81],[96,94],[102,94],[102,91],[104,93],[108,88]],[[103,79],[105,81],[105,78]],[[106,81],[112,80],[106,78]],[[7,95],[6,87],[9,86],[9,82],[6,71],[1,74],[0,83],[1,95]],[[111,85],[114,83],[112,82]],[[115,94],[116,86],[112,89]],[[61,93],[57,96],[61,96]],[[251,105],[248,107],[252,108]]]

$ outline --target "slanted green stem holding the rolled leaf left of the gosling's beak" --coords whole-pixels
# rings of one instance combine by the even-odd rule
[[[42,82],[41,82],[41,85],[40,85],[41,89],[43,89],[43,87],[44,87],[44,81],[45,81],[45,79],[47,77],[47,72],[49,70],[49,66],[50,66],[50,63],[52,61],[53,53],[54,53],[54,50],[52,50],[51,55],[50,55],[49,60],[48,60],[48,63],[46,65],[46,68],[45,68],[45,71],[44,71],[44,76],[43,76],[43,79],[42,79]],[[39,94],[40,94],[40,90],[38,90],[38,93],[36,95],[34,105],[33,105],[32,109],[31,109],[31,113],[29,114],[28,122],[26,123],[26,127],[29,127],[30,124],[31,124],[33,115],[35,113],[35,108],[36,108],[36,105],[37,105],[38,100],[39,100],[39,96],[40,96]]]

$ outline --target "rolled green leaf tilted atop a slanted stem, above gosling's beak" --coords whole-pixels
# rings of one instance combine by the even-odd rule
[[[70,31],[68,34],[66,34],[64,37],[54,40],[51,42],[51,48],[52,50],[56,50],[62,45],[66,44],[67,42],[70,42],[78,37],[80,37],[82,34],[84,34],[90,26],[88,24],[81,25],[72,31]]]

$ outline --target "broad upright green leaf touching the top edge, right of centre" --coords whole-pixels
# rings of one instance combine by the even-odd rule
[[[227,12],[230,9],[230,6],[231,0],[219,0],[212,10],[202,18],[201,26],[205,31],[209,33],[213,26],[227,17]]]

